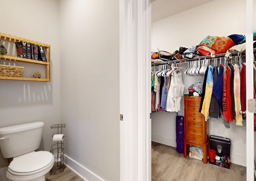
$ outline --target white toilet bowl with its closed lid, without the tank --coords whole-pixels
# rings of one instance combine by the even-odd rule
[[[12,181],[45,181],[45,175],[54,165],[54,156],[48,151],[32,151],[14,157],[6,176]]]

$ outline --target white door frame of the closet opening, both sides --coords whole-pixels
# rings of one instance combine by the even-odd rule
[[[154,1],[154,0],[151,0]],[[120,3],[120,181],[151,180],[150,0]],[[246,0],[246,57],[253,63],[253,0]],[[246,98],[253,98],[246,67]],[[248,105],[246,104],[248,107]],[[254,179],[254,114],[246,109],[246,179]],[[252,120],[252,121],[248,121]]]

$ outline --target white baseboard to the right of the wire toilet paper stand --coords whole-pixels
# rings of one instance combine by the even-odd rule
[[[105,181],[98,175],[64,154],[64,164],[85,181]]]

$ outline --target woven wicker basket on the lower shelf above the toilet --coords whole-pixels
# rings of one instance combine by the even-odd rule
[[[24,67],[0,65],[0,76],[21,77]]]

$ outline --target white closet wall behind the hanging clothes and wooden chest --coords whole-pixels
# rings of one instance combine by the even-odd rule
[[[220,7],[226,7],[226,10],[222,11]],[[239,13],[232,13],[236,10]],[[207,35],[244,35],[245,20],[245,0],[215,0],[152,23],[152,51],[159,48],[172,53],[180,46],[190,48],[198,45]],[[187,65],[183,66],[186,69]],[[188,87],[192,83],[198,81],[203,81],[203,78],[184,75],[184,94],[188,93]],[[183,111],[179,115],[184,115]],[[176,114],[167,112],[152,115],[152,141],[176,147],[175,117]],[[230,129],[226,129],[221,120],[209,120],[208,135],[230,138],[232,162],[246,166],[246,121],[243,121],[243,126],[236,126],[232,122]]]

